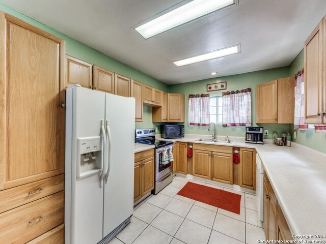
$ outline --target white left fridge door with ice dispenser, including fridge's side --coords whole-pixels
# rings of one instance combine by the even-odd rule
[[[66,107],[66,147],[70,149],[66,150],[65,243],[96,244],[102,239],[104,187],[100,187],[99,171],[83,177],[76,174],[76,166],[83,160],[77,155],[77,138],[101,136],[105,94],[82,87],[68,88]]]

